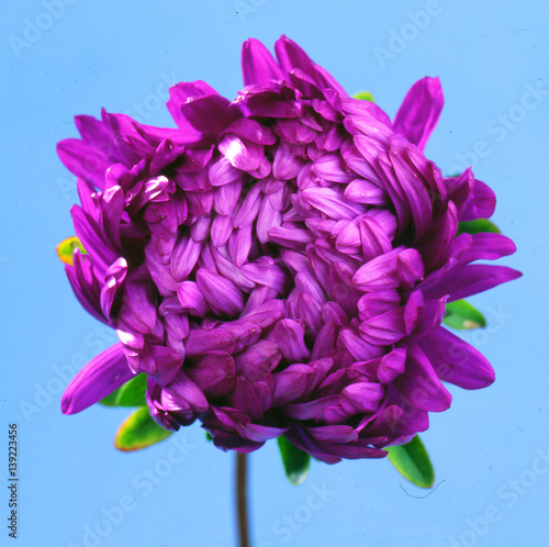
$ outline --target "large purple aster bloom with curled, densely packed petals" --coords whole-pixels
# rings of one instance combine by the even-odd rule
[[[198,418],[221,448],[284,434],[330,464],[383,457],[449,408],[442,382],[493,382],[440,324],[447,302],[519,277],[471,264],[515,246],[457,235],[492,215],[495,196],[423,154],[437,78],[416,82],[391,122],[285,36],[276,54],[244,44],[232,102],[202,81],[172,87],[178,129],[103,111],[59,143],[87,250],[67,275],[120,339],[75,378],[63,411],[145,372],[152,416],[169,429]]]

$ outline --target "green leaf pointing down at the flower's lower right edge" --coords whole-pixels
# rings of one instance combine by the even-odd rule
[[[406,445],[388,446],[384,449],[389,453],[389,461],[405,479],[416,487],[433,487],[435,471],[418,435]]]

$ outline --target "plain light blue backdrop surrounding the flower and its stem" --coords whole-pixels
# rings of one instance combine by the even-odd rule
[[[271,442],[251,456],[255,545],[549,545],[549,473],[539,459],[541,454],[549,460],[549,93],[531,92],[549,88],[549,4],[65,0],[56,5],[58,19],[48,18],[40,1],[10,2],[0,23],[0,410],[2,431],[12,422],[20,428],[18,545],[82,546],[87,526],[98,526],[104,536],[88,545],[235,545],[234,455],[208,444],[199,426],[178,434],[184,457],[179,451],[178,462],[167,464],[175,454],[170,442],[130,455],[113,448],[124,410],[60,413],[69,369],[113,338],[96,331],[55,256],[56,244],[74,233],[69,206],[77,200],[55,143],[76,136],[72,115],[98,115],[101,107],[170,124],[160,105],[166,81],[203,79],[234,98],[242,86],[240,43],[254,36],[272,48],[282,33],[349,92],[372,91],[391,115],[415,80],[439,76],[446,107],[426,154],[447,174],[464,158],[491,185],[498,198],[494,221],[518,246],[501,264],[525,276],[472,299],[491,323],[466,338],[493,362],[497,380],[480,392],[451,389],[452,408],[432,415],[423,439],[436,466],[436,490],[426,496],[378,460],[315,462],[295,488],[285,481]],[[411,13],[427,8],[428,22],[413,23]],[[33,33],[34,25],[43,30]],[[404,38],[399,43],[395,34]],[[520,107],[523,99],[529,110]],[[4,469],[7,453],[0,453]],[[145,478],[147,468],[155,470],[156,484]],[[324,498],[313,496],[315,489]],[[121,522],[109,525],[103,510],[121,503],[123,518],[114,510]],[[2,545],[11,545],[7,534],[2,525]]]

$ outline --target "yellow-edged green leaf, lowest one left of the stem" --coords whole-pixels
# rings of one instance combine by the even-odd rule
[[[122,451],[141,450],[170,435],[171,432],[160,427],[150,417],[148,406],[141,406],[120,426],[114,446]]]

